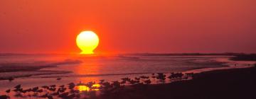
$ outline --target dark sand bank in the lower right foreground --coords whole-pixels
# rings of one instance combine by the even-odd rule
[[[109,99],[256,99],[256,67],[207,71],[189,81],[133,86]]]

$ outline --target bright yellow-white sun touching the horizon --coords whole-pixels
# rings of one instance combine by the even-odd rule
[[[92,31],[82,31],[76,38],[80,54],[93,54],[93,50],[99,45],[99,37]]]

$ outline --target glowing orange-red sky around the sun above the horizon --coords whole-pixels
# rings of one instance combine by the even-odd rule
[[[256,52],[255,0],[2,0],[0,52]]]

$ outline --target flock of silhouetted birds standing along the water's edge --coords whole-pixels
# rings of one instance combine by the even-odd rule
[[[166,74],[158,73],[151,74],[151,76],[139,76],[135,78],[121,78],[121,81],[112,81],[107,82],[105,80],[100,80],[99,83],[88,82],[88,83],[68,83],[67,85],[51,85],[51,86],[37,86],[33,88],[24,89],[21,85],[17,85],[14,89],[6,90],[6,95],[0,95],[2,99],[8,99],[9,93],[14,92],[14,97],[17,98],[65,98],[65,99],[73,99],[73,98],[81,98],[87,97],[90,98],[95,96],[95,91],[100,91],[100,94],[104,95],[107,93],[116,93],[125,88],[125,86],[138,86],[138,85],[147,85],[151,84],[152,80],[160,81],[164,83],[166,78],[169,78],[170,81],[179,81],[183,79],[192,78],[193,73],[182,74],[182,73],[171,73],[169,76]],[[60,80],[61,78],[57,78]],[[97,85],[97,86],[95,86]],[[79,89],[80,86],[84,86],[87,89],[82,91]]]

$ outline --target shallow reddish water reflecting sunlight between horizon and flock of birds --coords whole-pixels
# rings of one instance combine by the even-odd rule
[[[51,84],[78,83],[82,81],[117,81],[119,78],[151,73],[171,73],[193,69],[225,66],[247,66],[254,62],[234,62],[227,56],[143,56],[137,54],[112,54],[82,56],[77,54],[11,54],[0,55],[0,68],[4,66],[53,66],[38,71],[13,71],[0,73],[0,77],[26,76],[14,81],[0,81],[0,94],[21,84],[23,88]],[[71,71],[71,73],[65,73]],[[56,74],[58,73],[58,74]],[[29,75],[29,76],[27,76]],[[31,76],[32,75],[32,76]],[[57,81],[56,78],[62,78]]]

